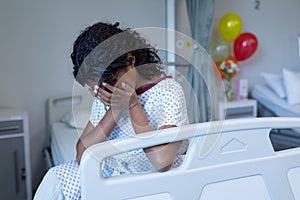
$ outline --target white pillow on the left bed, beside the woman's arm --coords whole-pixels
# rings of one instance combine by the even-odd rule
[[[68,126],[77,129],[84,129],[90,119],[89,109],[74,109],[68,112],[61,119]]]

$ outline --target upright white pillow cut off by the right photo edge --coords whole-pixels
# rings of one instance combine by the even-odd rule
[[[300,103],[300,72],[282,70],[284,85],[289,104]]]

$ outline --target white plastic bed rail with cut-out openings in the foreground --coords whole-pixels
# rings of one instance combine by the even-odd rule
[[[82,199],[300,199],[300,148],[275,152],[271,129],[300,118],[249,118],[191,124],[93,145],[80,164]],[[106,157],[190,140],[184,162],[164,173],[104,178]]]

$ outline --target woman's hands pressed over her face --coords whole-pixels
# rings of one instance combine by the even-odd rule
[[[94,93],[102,103],[114,110],[126,110],[138,104],[135,89],[125,82],[121,82],[118,86],[102,83]]]

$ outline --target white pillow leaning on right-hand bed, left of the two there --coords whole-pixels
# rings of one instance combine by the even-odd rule
[[[286,97],[282,75],[271,73],[261,73],[260,75],[264,78],[267,85],[274,91],[277,96],[282,99]]]

